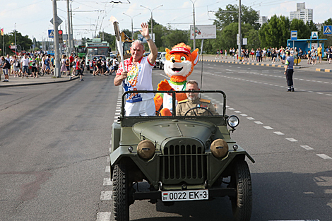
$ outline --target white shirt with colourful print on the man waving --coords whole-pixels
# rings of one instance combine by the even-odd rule
[[[152,69],[154,64],[150,64],[148,56],[143,57],[138,61],[137,66],[132,63],[133,57],[124,60],[124,66],[128,71],[126,81],[122,81],[122,87],[124,91],[132,90],[153,90],[152,85]],[[122,63],[119,65],[117,75],[120,75],[123,71]],[[131,93],[126,95],[126,102],[134,103],[143,100],[153,99],[153,93]]]

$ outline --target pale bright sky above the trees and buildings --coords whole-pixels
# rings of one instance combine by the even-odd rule
[[[196,25],[212,25],[215,18],[213,11],[225,9],[227,4],[239,4],[239,0],[73,0],[70,1],[73,10],[73,35],[76,39],[92,38],[95,33],[104,30],[114,35],[114,28],[109,18],[114,16],[119,20],[120,30],[131,30],[131,18],[134,31],[141,28],[142,22],[148,22],[153,10],[153,19],[161,25],[171,28],[189,30],[193,23],[193,3]],[[119,1],[117,1],[119,2]],[[323,23],[331,18],[332,0],[242,0],[242,5],[251,6],[260,11],[261,16],[271,18],[289,16],[290,11],[296,11],[296,4],[305,2],[306,8],[314,9],[314,23]],[[52,0],[1,0],[0,28],[4,32],[16,30],[22,35],[32,36],[38,41],[48,37],[48,30],[53,29],[49,22],[53,18]],[[162,5],[162,6],[161,6]],[[146,8],[143,8],[144,6]],[[160,6],[160,7],[159,7]],[[148,10],[147,8],[150,8]],[[66,1],[57,1],[57,13],[63,23],[59,29],[65,31]],[[126,15],[124,15],[126,13]],[[131,17],[131,18],[130,18]]]

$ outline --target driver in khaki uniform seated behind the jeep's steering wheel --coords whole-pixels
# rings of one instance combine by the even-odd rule
[[[198,82],[196,80],[188,80],[186,82],[186,90],[199,90]],[[184,116],[189,109],[186,115],[187,116],[211,116],[219,115],[215,111],[215,105],[211,103],[210,100],[201,99],[198,97],[198,92],[189,92],[186,93],[188,99],[182,100],[177,104],[177,116]],[[208,109],[210,112],[208,112]]]

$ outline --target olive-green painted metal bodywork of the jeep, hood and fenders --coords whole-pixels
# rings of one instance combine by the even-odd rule
[[[236,159],[244,160],[247,156],[254,162],[239,145],[233,150],[232,146],[237,143],[230,138],[226,119],[225,114],[213,117],[120,117],[112,125],[111,168],[130,161],[155,189],[160,188],[160,182],[162,190],[181,190],[182,184],[186,184],[187,189],[211,188],[220,177],[228,176]],[[212,141],[218,138],[229,146],[223,158],[215,157],[210,150]],[[137,145],[143,140],[155,144],[155,155],[150,160],[137,154]],[[129,147],[133,149],[131,152]]]

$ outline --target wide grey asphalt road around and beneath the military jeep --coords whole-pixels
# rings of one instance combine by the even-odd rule
[[[0,91],[0,220],[107,220],[113,78]],[[153,71],[153,85],[164,78]],[[256,160],[254,221],[332,217],[332,75],[296,70],[294,78],[296,91],[286,92],[281,68],[203,64],[202,89],[226,92],[227,114],[240,119],[232,138]],[[201,62],[189,79],[201,80]],[[131,205],[131,220],[157,219],[227,221],[232,212],[228,198]]]

